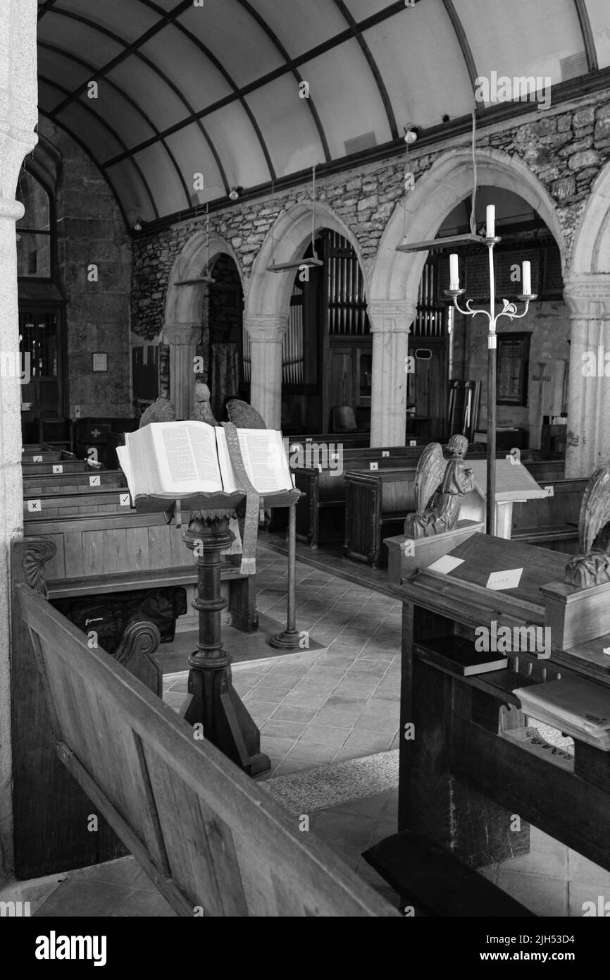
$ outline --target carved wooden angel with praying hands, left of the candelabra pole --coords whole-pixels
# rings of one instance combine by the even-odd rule
[[[462,497],[474,489],[472,471],[464,465],[468,440],[452,435],[445,453],[438,442],[426,446],[417,464],[417,513],[404,521],[409,538],[429,538],[451,531],[457,523]]]

